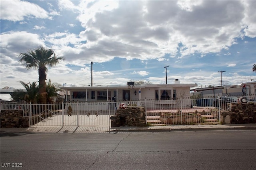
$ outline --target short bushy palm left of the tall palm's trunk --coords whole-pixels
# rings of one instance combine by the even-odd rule
[[[38,86],[36,85],[36,82],[32,82],[32,84],[29,83],[25,83],[22,81],[19,81],[22,86],[24,86],[24,88],[26,89],[26,91],[24,90],[14,90],[14,94],[13,94],[13,98],[15,101],[22,101],[25,100],[26,102],[31,102],[32,104],[35,104],[37,102],[38,99]]]

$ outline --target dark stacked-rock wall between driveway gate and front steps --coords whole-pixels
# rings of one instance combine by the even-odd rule
[[[110,117],[112,127],[146,125],[146,111],[144,107],[126,107],[117,109],[116,115]]]

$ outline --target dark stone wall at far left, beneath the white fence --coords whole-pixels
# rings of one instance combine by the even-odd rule
[[[1,128],[29,127],[29,118],[23,117],[23,110],[1,110]]]

